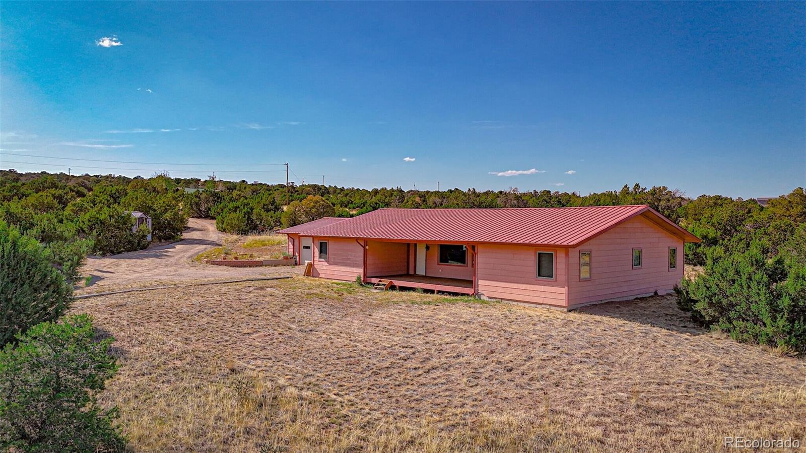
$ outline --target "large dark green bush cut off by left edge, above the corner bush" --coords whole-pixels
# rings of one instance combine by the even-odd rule
[[[68,309],[73,288],[54,268],[43,247],[0,221],[0,345]]]

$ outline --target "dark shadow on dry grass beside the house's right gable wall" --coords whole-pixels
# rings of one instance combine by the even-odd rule
[[[632,301],[605,302],[604,304],[582,307],[579,312],[639,322],[684,334],[702,335],[708,333],[708,330],[697,326],[688,313],[677,308],[675,297],[672,296],[642,297]]]

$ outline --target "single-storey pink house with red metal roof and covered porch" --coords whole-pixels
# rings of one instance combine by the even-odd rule
[[[312,276],[567,310],[669,293],[700,242],[646,205],[382,209],[279,232]]]

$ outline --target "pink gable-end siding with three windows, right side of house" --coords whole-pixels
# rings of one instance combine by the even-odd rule
[[[669,269],[669,248],[677,247],[677,268]],[[633,249],[642,249],[642,266],[633,268]],[[572,248],[568,254],[569,306],[668,293],[683,278],[682,239],[641,216]],[[580,281],[580,251],[591,251],[591,278]]]

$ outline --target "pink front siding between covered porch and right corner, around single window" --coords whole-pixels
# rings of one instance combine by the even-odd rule
[[[505,244],[478,246],[478,290],[505,301],[566,306],[567,249]],[[555,279],[537,278],[537,251],[555,252]]]

